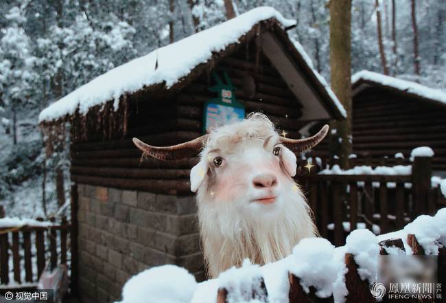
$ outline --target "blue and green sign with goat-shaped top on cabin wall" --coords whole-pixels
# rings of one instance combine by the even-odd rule
[[[231,79],[226,73],[223,76],[226,84],[213,72],[217,85],[209,87],[209,91],[218,93],[218,98],[208,100],[204,104],[204,133],[209,133],[211,128],[237,122],[245,117],[244,106],[235,100],[235,87],[233,87]]]

